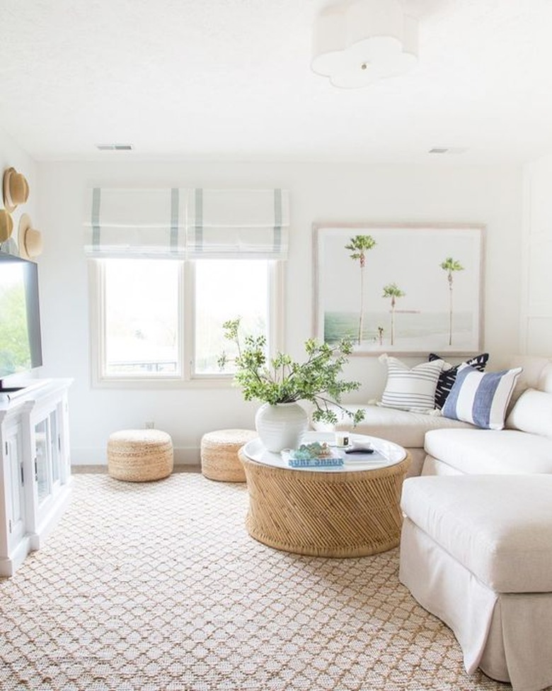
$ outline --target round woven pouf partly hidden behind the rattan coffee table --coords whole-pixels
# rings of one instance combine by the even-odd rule
[[[201,439],[201,472],[209,480],[245,482],[246,473],[238,459],[243,444],[258,437],[253,429],[218,429]]]

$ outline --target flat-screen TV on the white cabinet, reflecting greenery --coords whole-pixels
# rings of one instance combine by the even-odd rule
[[[0,252],[0,379],[40,365],[38,266]]]

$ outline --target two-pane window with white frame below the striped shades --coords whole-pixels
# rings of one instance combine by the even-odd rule
[[[231,379],[219,371],[224,321],[280,342],[280,262],[267,259],[91,259],[96,384],[156,386]]]

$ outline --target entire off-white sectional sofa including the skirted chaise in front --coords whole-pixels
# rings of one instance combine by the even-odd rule
[[[468,673],[539,691],[552,685],[552,360],[509,366],[522,373],[504,429],[367,405],[355,432],[413,458],[401,583],[454,631]]]

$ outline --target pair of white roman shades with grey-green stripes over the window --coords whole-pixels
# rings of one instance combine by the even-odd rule
[[[91,257],[287,257],[287,190],[96,187],[85,209]]]

